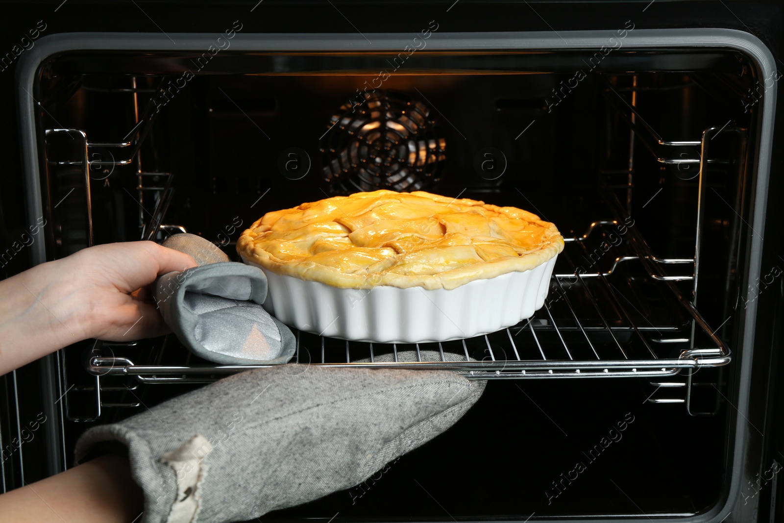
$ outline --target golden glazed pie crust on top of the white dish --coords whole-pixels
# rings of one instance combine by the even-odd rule
[[[531,212],[424,191],[360,192],[267,212],[237,241],[245,260],[342,289],[455,289],[528,271],[563,249],[555,225]]]

